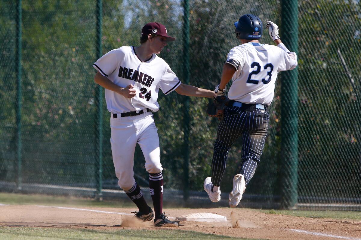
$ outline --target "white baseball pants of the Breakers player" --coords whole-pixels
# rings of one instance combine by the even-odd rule
[[[145,158],[145,170],[158,173],[163,170],[160,163],[158,129],[152,112],[132,117],[110,116],[112,155],[118,185],[121,189],[130,190],[134,179],[134,151],[138,143]]]

